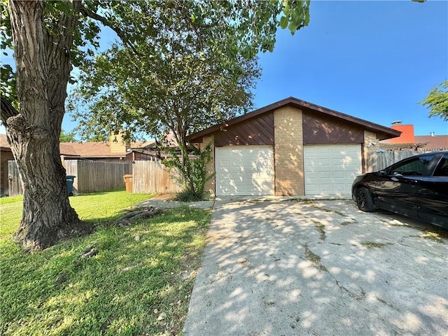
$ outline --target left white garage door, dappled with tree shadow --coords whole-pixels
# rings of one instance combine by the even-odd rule
[[[216,147],[216,195],[274,195],[272,146]]]

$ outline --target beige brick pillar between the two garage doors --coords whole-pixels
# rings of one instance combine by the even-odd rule
[[[275,195],[304,195],[302,111],[274,111]]]

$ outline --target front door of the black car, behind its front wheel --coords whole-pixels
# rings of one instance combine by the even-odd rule
[[[419,183],[427,176],[433,155],[409,158],[392,165],[375,187],[379,207],[407,216],[417,215]]]

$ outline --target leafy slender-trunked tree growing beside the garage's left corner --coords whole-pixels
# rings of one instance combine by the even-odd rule
[[[80,67],[69,104],[78,131],[83,137],[119,129],[158,139],[174,135],[184,183],[195,192],[187,134],[251,109],[251,90],[260,76],[257,53],[274,48],[277,27],[294,32],[307,25],[308,6],[302,1],[165,1],[163,6],[137,1],[111,8],[127,42]],[[76,110],[79,105],[83,108]]]

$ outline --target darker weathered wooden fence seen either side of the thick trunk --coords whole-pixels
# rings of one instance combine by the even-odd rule
[[[67,175],[74,175],[73,194],[123,188],[123,175],[132,173],[131,162],[64,160]],[[8,161],[9,196],[22,195],[22,185],[15,161]]]

